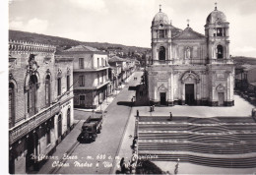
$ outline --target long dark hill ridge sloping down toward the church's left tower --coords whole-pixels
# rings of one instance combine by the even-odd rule
[[[67,48],[70,48],[71,46],[80,45],[80,44],[92,46],[99,50],[116,49],[118,51],[123,51],[124,53],[128,53],[128,52],[145,53],[147,50],[150,50],[150,48],[145,48],[145,47],[126,46],[122,44],[114,44],[114,43],[107,43],[107,42],[103,42],[103,43],[86,42],[86,41],[68,39],[64,37],[38,34],[34,32],[27,32],[27,31],[20,31],[20,30],[12,30],[12,29],[9,29],[9,39],[24,40],[28,42],[38,42],[38,43],[55,45],[57,47],[57,50],[67,49]]]

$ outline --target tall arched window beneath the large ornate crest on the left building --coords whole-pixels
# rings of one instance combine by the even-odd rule
[[[36,85],[37,85],[37,78],[35,75],[32,75],[29,81],[29,91],[28,91],[28,113],[30,115],[34,115],[35,104],[36,104]]]

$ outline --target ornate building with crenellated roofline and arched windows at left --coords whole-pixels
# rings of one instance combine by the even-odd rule
[[[73,127],[72,58],[51,45],[9,41],[10,173],[36,170]]]

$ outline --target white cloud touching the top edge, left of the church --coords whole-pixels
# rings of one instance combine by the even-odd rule
[[[87,11],[106,13],[105,1],[103,0],[69,0],[70,4],[76,8],[82,8]]]

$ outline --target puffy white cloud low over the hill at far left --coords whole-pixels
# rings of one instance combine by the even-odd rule
[[[37,18],[33,18],[27,24],[22,21],[11,21],[9,23],[9,29],[17,29],[24,31],[32,31],[42,33],[45,32],[48,27],[48,21],[39,20]]]

